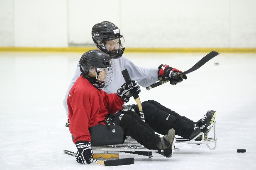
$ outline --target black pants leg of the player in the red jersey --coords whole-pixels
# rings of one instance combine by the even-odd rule
[[[122,111],[115,115],[122,116],[119,121],[116,118],[112,118],[112,121],[123,128],[124,139],[126,136],[130,136],[137,142],[145,146],[147,149],[158,149],[157,144],[160,141],[160,137],[149,127],[134,111]]]

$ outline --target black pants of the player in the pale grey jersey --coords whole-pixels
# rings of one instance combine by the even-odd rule
[[[195,122],[160,103],[149,100],[141,103],[146,123],[157,133],[166,135],[173,128],[175,134],[188,139],[194,130]],[[138,106],[134,108],[139,115]]]

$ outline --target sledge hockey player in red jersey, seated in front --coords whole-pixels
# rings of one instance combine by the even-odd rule
[[[102,91],[112,80],[111,59],[108,54],[99,50],[90,50],[84,53],[79,61],[81,76],[76,80],[68,94],[69,130],[76,144],[78,163],[90,163],[93,156],[89,128],[98,124],[105,125],[109,114],[122,109],[124,102],[132,96],[130,90],[139,94],[140,87],[137,81],[124,83],[116,93],[107,94]],[[124,138],[131,136],[147,149],[161,149],[163,156],[171,157],[172,143],[175,136],[173,129],[163,137],[159,137],[134,112],[115,116],[112,119],[116,125],[122,127]],[[124,139],[123,139],[124,140]]]

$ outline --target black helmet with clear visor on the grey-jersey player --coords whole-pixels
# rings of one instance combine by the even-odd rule
[[[110,55],[110,58],[122,57],[125,49],[124,37],[115,24],[103,21],[95,24],[92,28],[92,38],[95,45],[103,52]]]

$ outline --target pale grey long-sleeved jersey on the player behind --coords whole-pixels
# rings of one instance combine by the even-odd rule
[[[139,85],[142,87],[147,87],[149,85],[152,85],[158,80],[158,68],[144,68],[136,66],[132,61],[122,56],[118,59],[112,59],[112,66],[113,66],[113,77],[112,82],[105,87],[104,90],[108,94],[110,93],[116,93],[117,89],[121,87],[125,83],[125,80],[122,76],[122,70],[127,69],[131,80],[137,80]],[[81,71],[79,68],[79,64],[77,65],[76,72],[74,77],[71,80],[71,83],[68,87],[68,90],[65,95],[65,99],[63,101],[63,105],[66,109],[66,113],[68,116],[68,105],[67,105],[67,96],[71,89],[71,87],[76,82],[76,79],[81,75]]]

